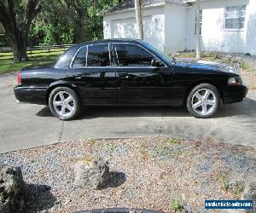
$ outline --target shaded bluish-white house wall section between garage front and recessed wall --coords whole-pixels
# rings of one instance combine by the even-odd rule
[[[186,49],[186,8],[166,3],[166,45],[165,53],[171,55]]]

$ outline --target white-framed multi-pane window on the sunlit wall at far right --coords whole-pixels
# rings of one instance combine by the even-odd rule
[[[228,7],[225,10],[225,29],[241,30],[244,28],[246,5]]]

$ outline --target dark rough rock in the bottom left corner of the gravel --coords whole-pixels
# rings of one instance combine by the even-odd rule
[[[0,212],[24,212],[26,192],[20,167],[0,165]]]

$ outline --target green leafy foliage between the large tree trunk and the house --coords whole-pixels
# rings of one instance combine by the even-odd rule
[[[120,0],[46,0],[32,23],[28,45],[80,43],[103,37],[102,10]]]

